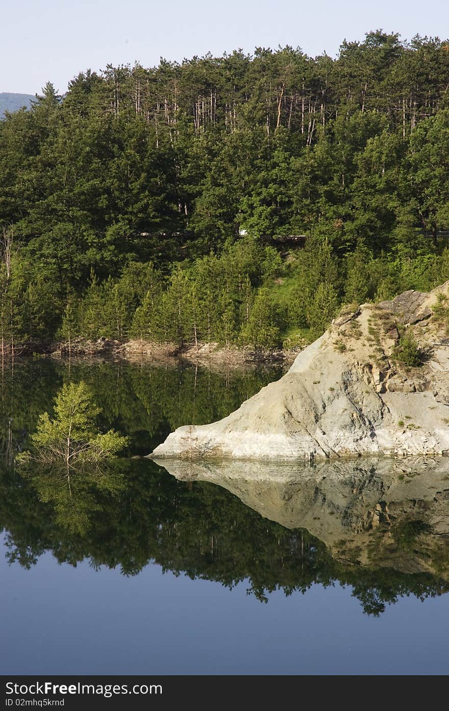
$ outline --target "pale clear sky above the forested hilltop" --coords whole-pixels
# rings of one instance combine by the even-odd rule
[[[256,46],[337,54],[377,28],[449,36],[448,0],[0,0],[0,92],[64,92],[88,68]]]

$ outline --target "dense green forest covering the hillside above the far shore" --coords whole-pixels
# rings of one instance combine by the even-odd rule
[[[448,89],[449,42],[382,31],[48,82],[0,122],[3,351],[294,345],[445,281]]]

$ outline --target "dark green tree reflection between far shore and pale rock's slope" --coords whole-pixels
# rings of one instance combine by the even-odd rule
[[[69,368],[63,361],[24,358],[2,373],[0,447],[28,447],[28,434],[41,412],[51,412],[63,383],[85,380],[102,408],[99,426],[128,434],[131,451],[146,454],[180,424],[221,419],[280,376],[279,368],[211,373],[173,360],[158,367],[93,361],[72,362]]]

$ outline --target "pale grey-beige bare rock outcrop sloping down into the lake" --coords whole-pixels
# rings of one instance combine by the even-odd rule
[[[154,456],[447,454],[448,295],[449,282],[341,315],[281,380],[220,422],[179,427]],[[421,349],[420,367],[398,359],[406,331]]]

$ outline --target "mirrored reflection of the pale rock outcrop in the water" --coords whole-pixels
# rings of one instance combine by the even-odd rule
[[[163,460],[211,481],[286,528],[306,528],[341,562],[449,577],[449,462],[359,459],[316,466]]]

